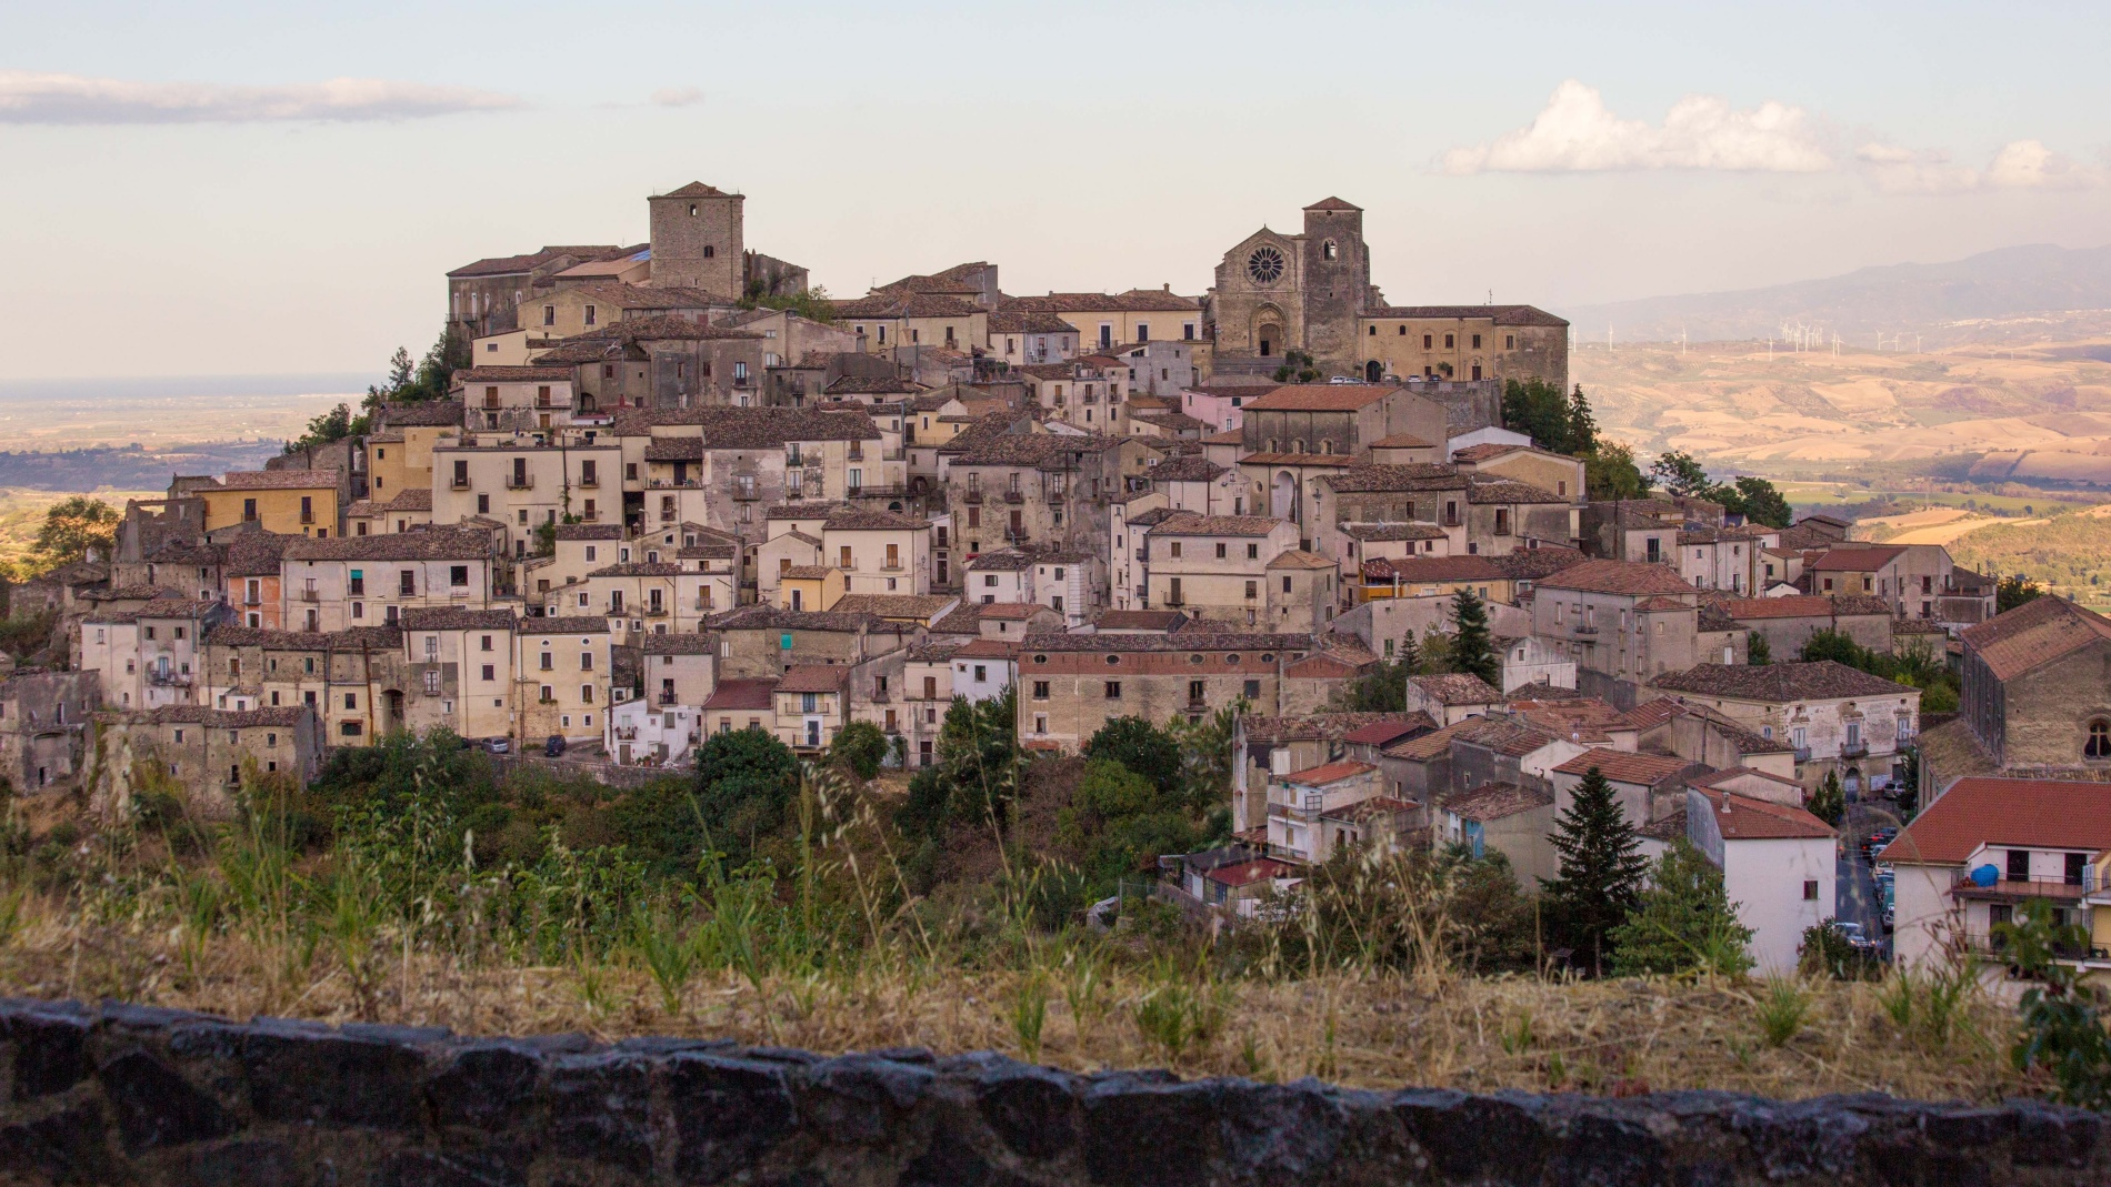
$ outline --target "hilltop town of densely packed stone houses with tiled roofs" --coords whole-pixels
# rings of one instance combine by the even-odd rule
[[[918,772],[956,702],[1041,755],[1233,708],[1229,837],[1157,862],[1195,913],[1357,845],[1552,879],[1596,778],[1649,852],[1708,856],[1769,968],[1826,919],[1875,936],[1879,898],[1906,959],[2098,883],[2111,835],[2058,803],[2111,765],[2103,677],[2067,683],[2111,622],[1997,614],[1944,546],[1824,514],[1594,491],[1505,415],[1571,392],[1566,323],[1387,304],[1351,202],[1229,247],[1201,295],[1011,295],[971,261],[830,301],[747,247],[739,194],[648,215],[642,245],[448,272],[443,396],[177,476],[110,554],[17,586],[55,633],[0,685],[13,784],[112,803],[148,761],[224,812],[253,772],[437,727],[616,778],[868,723]],[[2022,774],[2052,807],[2010,829]],[[1868,818],[1834,791],[1938,820],[1896,888],[1843,883]]]

